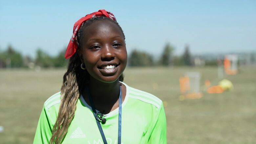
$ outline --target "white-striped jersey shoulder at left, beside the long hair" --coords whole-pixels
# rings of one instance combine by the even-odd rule
[[[44,108],[45,110],[49,110],[52,107],[56,107],[57,109],[59,108],[60,104],[60,99],[61,99],[61,94],[60,92],[53,94],[50,96],[45,102],[44,102]]]

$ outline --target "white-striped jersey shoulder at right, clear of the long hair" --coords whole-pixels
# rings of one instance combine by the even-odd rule
[[[129,98],[133,98],[138,100],[138,103],[147,103],[150,105],[155,106],[157,109],[160,109],[162,106],[162,100],[160,100],[157,96],[147,93],[141,90],[138,90],[136,88],[130,87],[127,84],[123,83],[126,87],[126,94],[128,95]]]

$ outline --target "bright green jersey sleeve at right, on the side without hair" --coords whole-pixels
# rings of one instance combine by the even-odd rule
[[[157,121],[153,126],[153,131],[148,141],[149,144],[166,144],[166,117],[163,109],[163,104],[160,107],[160,113]]]

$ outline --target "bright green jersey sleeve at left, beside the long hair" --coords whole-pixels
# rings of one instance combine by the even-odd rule
[[[52,137],[52,128],[49,119],[50,116],[47,115],[44,107],[39,117],[33,144],[49,144]]]

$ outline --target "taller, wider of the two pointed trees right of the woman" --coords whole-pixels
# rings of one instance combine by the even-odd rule
[[[172,54],[173,54],[174,48],[167,43],[164,46],[164,50],[162,52],[160,63],[163,66],[168,66],[172,63]]]

